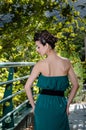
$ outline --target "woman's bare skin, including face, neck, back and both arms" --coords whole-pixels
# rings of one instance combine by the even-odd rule
[[[31,103],[31,106],[33,108],[33,111],[35,108],[35,104],[34,104],[32,92],[31,92],[31,87],[34,80],[38,77],[38,75],[40,73],[44,76],[68,75],[69,80],[72,83],[72,89],[68,98],[67,109],[66,109],[67,114],[69,114],[69,106],[72,103],[72,100],[79,87],[78,80],[73,70],[73,67],[68,59],[58,56],[56,52],[52,50],[52,48],[48,44],[43,46],[40,43],[40,41],[36,41],[36,46],[37,46],[36,48],[37,52],[41,55],[47,55],[47,58],[45,58],[42,61],[39,61],[34,66],[32,73],[25,84],[25,91]]]

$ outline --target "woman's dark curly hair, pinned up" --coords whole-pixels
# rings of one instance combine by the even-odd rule
[[[36,32],[34,35],[34,41],[40,41],[41,44],[46,45],[48,43],[52,49],[55,48],[55,43],[58,41],[58,38],[53,36],[47,30],[42,30],[41,32]]]

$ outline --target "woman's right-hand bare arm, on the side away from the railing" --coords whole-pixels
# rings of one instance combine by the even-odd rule
[[[72,103],[72,100],[75,97],[76,92],[77,92],[78,87],[79,87],[77,76],[76,76],[71,64],[70,64],[70,69],[68,71],[68,76],[69,76],[70,82],[72,83],[72,89],[71,89],[71,92],[70,92],[69,97],[68,97],[67,114],[69,113],[69,106]]]

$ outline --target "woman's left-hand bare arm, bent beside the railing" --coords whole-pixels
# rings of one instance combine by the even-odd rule
[[[38,75],[40,73],[39,66],[40,66],[39,63],[37,63],[34,66],[32,72],[31,72],[31,75],[25,84],[25,91],[26,91],[27,97],[30,101],[30,104],[31,104],[33,110],[34,110],[35,105],[34,105],[34,100],[33,100],[32,92],[31,92],[31,87],[32,87],[34,80],[38,77]]]

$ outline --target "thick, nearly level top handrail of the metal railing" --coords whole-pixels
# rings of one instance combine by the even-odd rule
[[[18,66],[33,66],[35,62],[0,62],[0,68],[18,67]]]

